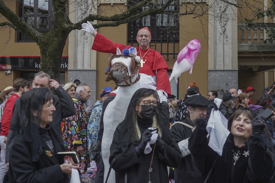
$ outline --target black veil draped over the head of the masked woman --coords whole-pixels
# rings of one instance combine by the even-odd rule
[[[144,93],[147,93],[146,91],[152,91],[154,93],[153,95],[156,96],[158,99],[158,95],[155,90],[147,89],[147,88],[138,89],[133,94],[133,96],[130,100],[125,118],[123,120],[123,122],[127,123],[127,130],[130,134],[131,142],[135,145],[140,143],[140,139],[138,138],[138,132],[137,132],[137,128],[136,128],[137,112],[135,109],[136,109],[136,105],[138,104],[140,99],[147,97],[147,95],[144,95]],[[158,125],[160,126],[160,130],[162,132],[162,137],[164,138],[166,143],[168,143],[168,144],[172,143],[171,136],[170,136],[171,132],[167,126],[169,121],[165,121],[165,118],[163,118],[160,104],[157,106],[156,116],[157,116]]]

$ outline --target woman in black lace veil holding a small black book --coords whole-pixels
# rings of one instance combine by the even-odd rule
[[[53,93],[48,88],[34,88],[20,97],[21,132],[14,141],[9,164],[9,182],[68,183],[72,168],[78,169],[69,157],[59,164],[57,153],[64,151],[58,133],[50,126]]]

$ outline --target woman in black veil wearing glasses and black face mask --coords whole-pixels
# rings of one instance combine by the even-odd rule
[[[165,118],[162,117],[158,94],[152,89],[138,89],[127,109],[125,119],[115,130],[110,147],[116,183],[167,183],[167,166],[177,167],[181,153]],[[145,154],[145,146],[157,128],[157,140]]]

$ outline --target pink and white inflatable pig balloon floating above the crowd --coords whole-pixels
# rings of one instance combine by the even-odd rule
[[[178,77],[180,77],[180,75],[187,70],[190,70],[189,74],[192,74],[193,65],[200,51],[200,47],[199,40],[194,39],[180,51],[179,55],[177,56],[177,61],[173,66],[169,81],[175,77],[177,84]]]

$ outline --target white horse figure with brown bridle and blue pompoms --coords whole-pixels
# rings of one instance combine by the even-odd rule
[[[134,49],[133,55],[137,55],[136,49]],[[106,107],[103,116],[104,132],[101,143],[101,152],[104,163],[104,182],[106,181],[106,177],[110,168],[110,146],[113,141],[115,129],[118,124],[123,121],[133,94],[135,91],[140,89],[140,83],[138,81],[140,77],[139,62],[139,56],[132,58],[125,57],[121,54],[119,49],[117,49],[117,55],[112,55],[111,58],[109,58],[109,67],[112,73],[108,71],[107,74],[109,77],[106,78],[106,81],[113,79],[115,83],[121,87],[119,87],[118,94],[115,96],[114,100],[111,101]],[[126,70],[128,70],[128,73],[125,72]],[[115,171],[113,169],[110,172],[108,183],[115,183]]]

